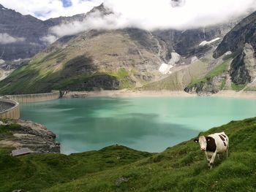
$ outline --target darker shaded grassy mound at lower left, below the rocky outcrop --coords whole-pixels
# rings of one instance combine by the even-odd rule
[[[15,189],[40,191],[152,155],[122,146],[72,155],[34,154],[13,158],[9,154],[10,150],[0,148],[1,192]]]

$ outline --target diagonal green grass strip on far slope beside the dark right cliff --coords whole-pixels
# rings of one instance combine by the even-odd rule
[[[225,72],[227,70],[229,62],[230,62],[230,60],[227,60],[227,61],[223,62],[222,64],[219,64],[218,66],[214,67],[214,69],[211,69],[211,71],[209,71],[206,74],[206,76],[203,78],[192,80],[192,82],[190,82],[189,85],[187,85],[187,87],[192,88],[199,83],[208,82],[208,80],[211,80],[212,77],[216,77],[216,76],[222,74],[223,72]]]

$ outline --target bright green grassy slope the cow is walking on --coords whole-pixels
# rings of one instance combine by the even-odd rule
[[[45,191],[255,191],[256,118],[228,123],[206,133],[225,131],[230,157],[209,171],[205,155],[192,140],[134,164],[97,172]],[[120,177],[129,179],[115,185]]]

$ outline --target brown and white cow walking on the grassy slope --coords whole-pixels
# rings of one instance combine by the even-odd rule
[[[225,132],[209,134],[206,136],[200,136],[194,139],[194,142],[199,142],[201,150],[206,153],[208,167],[212,169],[214,159],[219,153],[226,153],[228,150],[228,137]]]

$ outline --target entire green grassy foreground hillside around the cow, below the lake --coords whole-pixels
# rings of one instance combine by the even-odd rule
[[[0,191],[255,191],[256,118],[231,121],[200,135],[220,131],[230,138],[229,157],[216,158],[212,170],[192,139],[162,153],[115,145],[72,155],[14,158],[1,149]]]

